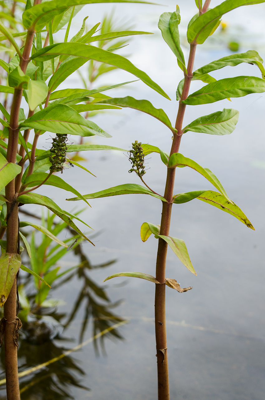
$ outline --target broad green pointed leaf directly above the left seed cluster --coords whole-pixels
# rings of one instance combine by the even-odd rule
[[[48,130],[58,134],[72,134],[79,136],[111,136],[94,122],[86,120],[76,110],[66,104],[51,104],[27,118],[20,128],[34,128]]]

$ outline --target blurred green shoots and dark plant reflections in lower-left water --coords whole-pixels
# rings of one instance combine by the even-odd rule
[[[34,214],[28,212],[27,214],[40,219]],[[46,224],[49,223],[49,218],[52,219],[54,224],[53,216],[48,216]],[[56,229],[57,232],[63,232],[66,230],[66,226],[61,223],[54,224],[54,229]],[[24,232],[24,234],[25,236],[27,235],[26,232]],[[64,241],[65,243],[74,241],[76,232],[71,230],[71,234],[73,235],[72,238],[66,239]],[[35,246],[35,250],[32,246]],[[47,362],[54,357],[64,354],[64,352],[68,350],[62,346],[60,342],[73,342],[74,340],[64,337],[62,330],[66,330],[70,326],[81,308],[84,308],[84,316],[80,324],[80,342],[84,339],[90,320],[92,322],[93,337],[110,328],[117,322],[123,321],[122,318],[111,311],[112,308],[118,306],[119,302],[112,303],[106,290],[102,286],[96,284],[88,274],[88,272],[93,269],[106,268],[116,262],[116,260],[92,265],[83,252],[82,244],[76,242],[73,246],[72,253],[75,258],[78,259],[78,265],[74,268],[70,268],[66,273],[57,275],[58,267],[54,268],[54,264],[51,264],[49,261],[49,255],[54,254],[57,249],[59,249],[60,254],[64,255],[66,249],[62,251],[62,247],[59,248],[56,243],[53,244],[52,240],[47,237],[43,238],[39,246],[36,246],[34,239],[31,240],[31,253],[33,254],[35,251],[37,261],[40,261],[38,260],[38,255],[42,254],[42,263],[38,263],[38,265],[41,264],[38,274],[42,276],[44,280],[49,280],[49,274],[53,275],[53,278],[56,276],[56,278],[53,279],[53,282],[56,281],[56,284],[52,284],[51,280],[48,281],[48,283],[52,284],[53,289],[60,288],[66,284],[69,285],[73,279],[77,278],[80,281],[80,285],[78,285],[80,290],[76,296],[72,310],[70,310],[68,314],[59,313],[56,307],[56,301],[52,298],[46,299],[46,296],[49,294],[48,286],[42,282],[38,282],[38,280],[35,280],[35,285],[33,286],[32,283],[35,278],[32,275],[20,275],[20,312],[18,316],[22,320],[22,328],[19,331],[19,372]],[[56,257],[54,259],[56,259]],[[24,260],[24,264],[30,265],[30,262]],[[56,270],[56,274],[52,273],[54,270]],[[44,271],[46,272],[44,273]],[[52,292],[50,292],[50,294],[52,294]],[[102,352],[106,353],[104,348],[104,339],[106,336],[122,339],[117,328],[109,330],[106,334],[98,338],[94,338],[93,343],[96,354],[99,354],[99,344]],[[1,364],[2,370],[4,370],[4,352],[1,352]],[[85,371],[76,364],[74,358],[66,355],[60,360],[38,370],[38,372],[34,373],[34,376],[30,374],[22,378],[20,382],[21,399],[72,399],[71,386],[89,390],[89,388],[83,386],[81,383],[80,376],[84,375]],[[2,378],[4,378],[4,372],[0,375],[0,379]],[[1,390],[4,389],[5,386],[2,385]],[[0,396],[0,400],[2,399],[6,399],[6,397]]]

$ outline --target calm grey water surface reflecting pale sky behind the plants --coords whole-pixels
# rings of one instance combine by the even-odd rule
[[[132,62],[149,73],[172,101],[152,92],[141,82],[132,84],[130,88],[112,90],[108,94],[146,98],[157,108],[163,108],[173,122],[177,108],[175,89],[182,77],[174,56],[159,38],[156,27],[159,15],[175,8],[173,2],[168,4],[169,7],[126,4],[117,7],[117,14],[136,18],[137,29],[155,32],[154,37],[133,39],[124,54],[131,52]],[[215,4],[218,2],[213,2],[213,6]],[[179,6],[183,10],[184,25],[188,15],[195,14],[196,8],[191,0],[179,2]],[[104,8],[110,10],[112,6]],[[86,6],[83,11],[79,20],[90,15],[89,23],[92,25],[100,20],[102,5]],[[261,56],[265,55],[264,14],[265,5],[261,4],[242,7],[225,16],[232,26],[232,34],[238,34],[242,29],[241,36],[237,36],[242,40],[239,51],[253,48],[250,45],[256,42],[255,49],[260,51]],[[215,50],[204,46],[197,52],[195,68],[227,53],[228,50],[221,45],[216,46]],[[259,76],[259,71],[254,68],[249,64],[227,67],[227,70],[214,72],[213,76],[217,79],[227,77],[227,74]],[[126,72],[113,72],[108,82],[105,78],[102,84],[130,79],[131,76]],[[70,85],[82,87],[78,76],[73,77]],[[199,84],[195,82],[193,88],[195,91]],[[217,175],[229,197],[242,208],[256,230],[248,229],[229,214],[197,200],[173,207],[171,234],[185,240],[198,274],[191,274],[169,249],[167,277],[177,279],[182,287],[193,286],[192,290],[183,294],[169,288],[167,290],[171,398],[177,400],[264,399],[265,97],[263,94],[252,94],[232,99],[232,103],[228,103],[228,100],[221,103],[197,106],[196,109],[187,107],[184,123],[216,110],[233,107],[240,111],[235,132],[220,137],[189,132],[182,138],[180,152]],[[97,116],[94,120],[113,138],[94,137],[90,139],[92,143],[129,149],[136,139],[165,151],[170,149],[171,135],[163,124],[135,110],[124,109]],[[49,147],[45,141],[42,145]],[[128,174],[130,163],[126,153],[87,152],[85,156],[88,160],[84,166],[97,178],[82,170],[77,171],[77,168],[64,171],[64,179],[82,194],[122,183],[140,183],[136,175]],[[145,180],[153,190],[163,193],[166,168],[158,155],[151,155],[148,163],[150,169],[145,174]],[[211,189],[211,185],[202,176],[188,168],[179,168],[175,193],[204,188]],[[58,200],[61,192],[53,187],[45,186],[38,192],[56,199],[63,209],[84,207],[81,202]],[[65,193],[60,194],[61,198],[72,197]],[[159,224],[160,201],[151,196],[131,195],[92,200],[90,204],[92,208],[86,209],[82,218],[96,231],[102,232],[94,239],[96,247],[84,244],[82,251],[92,264],[117,260],[107,268],[91,271],[90,277],[101,285],[107,276],[116,272],[140,271],[154,275],[157,241],[150,237],[143,243],[139,229],[145,221]],[[28,210],[39,212],[33,205]],[[70,253],[60,265],[69,268],[73,263],[74,255]],[[123,277],[108,281],[105,287],[112,302],[122,299],[113,312],[129,319],[130,323],[119,329],[124,340],[105,340],[107,356],[97,357],[92,344],[71,354],[72,362],[76,364],[76,370],[73,368],[71,374],[91,390],[70,385],[68,393],[76,400],[153,400],[156,398],[154,285]],[[64,300],[58,312],[69,312],[79,290],[80,281],[74,279],[52,293],[53,297]],[[83,312],[80,311],[74,323],[62,333],[67,338],[75,338],[74,342],[62,343],[55,337],[50,345],[55,346],[49,350],[50,358],[59,354],[56,346],[71,348],[78,344],[82,318]],[[91,328],[90,325],[84,340],[91,336]],[[58,328],[58,332],[61,334],[62,328]],[[32,344],[37,353],[41,345]],[[24,362],[25,359],[21,360],[22,364]],[[39,362],[43,361],[35,361],[35,364],[23,368]],[[56,367],[55,363],[53,368],[56,371],[59,366]],[[64,368],[67,369],[67,365]],[[78,368],[85,374],[82,375]],[[50,374],[54,371],[50,371]],[[50,384],[45,380],[42,382],[46,387]],[[45,397],[32,395],[31,399],[55,399],[58,396],[52,390],[50,397],[46,392]]]

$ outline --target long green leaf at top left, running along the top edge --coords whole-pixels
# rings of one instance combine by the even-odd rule
[[[40,32],[42,28],[48,24],[56,15],[67,11],[69,7],[91,3],[147,3],[140,0],[52,0],[37,4],[34,7],[28,8],[22,15],[23,25],[25,28],[34,28],[36,32]],[[147,3],[150,4],[150,3]],[[71,10],[72,11],[72,10]],[[68,22],[64,23],[64,25]],[[62,25],[62,26],[64,26]],[[3,32],[4,33],[4,32]]]

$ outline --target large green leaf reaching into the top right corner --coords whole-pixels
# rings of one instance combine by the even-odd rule
[[[234,10],[240,6],[247,6],[248,4],[259,4],[263,3],[264,0],[226,0],[221,3],[219,6],[208,10],[204,14],[201,14],[198,18],[196,18],[189,26],[187,30],[187,39],[188,42],[196,43],[198,36],[209,26],[217,22],[219,18],[226,12]],[[206,39],[206,38],[205,38]],[[200,42],[203,43],[203,42]]]

